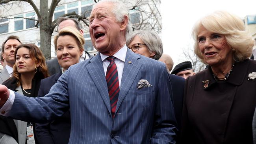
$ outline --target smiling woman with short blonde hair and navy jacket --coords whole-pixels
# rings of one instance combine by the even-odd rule
[[[41,80],[38,96],[45,96],[59,77],[71,66],[79,62],[83,54],[85,40],[78,30],[65,27],[54,38],[58,63],[62,72]],[[70,111],[52,122],[36,124],[35,131],[39,144],[68,144],[70,136]]]

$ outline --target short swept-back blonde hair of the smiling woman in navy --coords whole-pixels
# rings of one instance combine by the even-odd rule
[[[59,31],[59,33],[54,37],[54,47],[55,51],[57,51],[57,41],[60,36],[70,35],[76,39],[76,44],[80,51],[83,51],[83,45],[85,44],[85,40],[83,35],[75,28],[67,26]]]

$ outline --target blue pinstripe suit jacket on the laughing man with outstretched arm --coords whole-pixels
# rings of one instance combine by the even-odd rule
[[[152,86],[137,89],[140,79]],[[165,65],[127,50],[114,119],[100,54],[71,66],[43,98],[15,93],[9,116],[43,122],[70,108],[70,144],[170,144],[176,131],[171,97]]]

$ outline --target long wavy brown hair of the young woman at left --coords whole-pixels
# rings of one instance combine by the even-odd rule
[[[27,48],[29,50],[31,59],[33,59],[33,61],[35,61],[36,64],[37,63],[40,64],[37,67],[34,77],[37,77],[39,79],[47,78],[49,76],[49,73],[48,73],[48,68],[46,66],[46,63],[45,63],[45,57],[44,57],[42,51],[35,44],[21,44],[16,48],[16,50],[14,52],[15,61],[16,61],[17,51],[20,48]],[[17,87],[19,87],[21,79],[20,79],[20,73],[17,70],[16,64],[17,63],[15,62],[15,65],[13,66],[13,76],[18,79]]]

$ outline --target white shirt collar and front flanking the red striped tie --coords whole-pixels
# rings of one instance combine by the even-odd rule
[[[114,57],[116,57],[116,59],[114,59],[114,61],[115,61],[115,64],[117,65],[119,87],[121,87],[122,71],[124,70],[124,61],[125,61],[125,57],[126,57],[126,52],[127,52],[127,47],[126,47],[126,44],[124,44],[124,46],[117,53],[115,53],[113,55]],[[103,65],[104,73],[106,76],[108,65],[110,63],[106,59],[108,57],[108,55],[104,55],[104,54],[100,53],[100,57],[102,60],[102,65]]]

